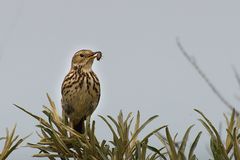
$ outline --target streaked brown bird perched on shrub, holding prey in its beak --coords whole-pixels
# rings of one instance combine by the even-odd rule
[[[71,69],[62,83],[63,114],[70,125],[84,133],[84,121],[96,109],[100,99],[100,83],[92,71],[94,59],[100,60],[102,53],[80,50],[72,58]]]

